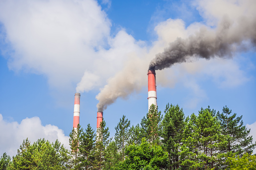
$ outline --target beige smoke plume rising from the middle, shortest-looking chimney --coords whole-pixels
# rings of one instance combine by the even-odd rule
[[[144,60],[133,58],[121,72],[109,79],[108,84],[96,96],[99,100],[98,111],[104,111],[119,97],[126,99],[129,94],[140,91],[142,84],[146,82],[146,76],[141,75],[141,73],[146,75],[146,72],[143,72],[146,70],[146,65],[143,63]]]

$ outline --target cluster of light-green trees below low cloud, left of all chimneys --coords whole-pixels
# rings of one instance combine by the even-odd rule
[[[31,145],[26,139],[9,169],[67,169],[69,159],[68,150],[58,140],[38,139]]]

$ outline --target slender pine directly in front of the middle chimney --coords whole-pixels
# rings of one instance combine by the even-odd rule
[[[110,139],[109,128],[106,127],[106,122],[102,120],[100,127],[97,128],[98,135],[96,136],[96,149],[94,152],[93,169],[104,169],[106,166],[106,147],[108,146]]]

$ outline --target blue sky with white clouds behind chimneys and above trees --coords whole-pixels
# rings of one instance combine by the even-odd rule
[[[255,27],[239,26],[256,21],[254,9],[254,0],[0,1],[0,154],[17,154],[27,137],[68,147],[76,92],[83,128],[96,130],[99,100],[112,137],[123,115],[140,123],[150,61],[177,38],[214,36],[227,18],[230,52],[156,70],[157,105],[178,104],[186,116],[227,106],[255,141]]]

